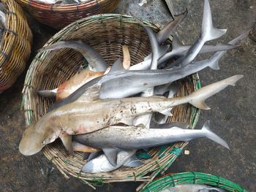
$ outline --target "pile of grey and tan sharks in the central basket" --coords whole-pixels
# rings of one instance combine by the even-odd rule
[[[137,150],[188,142],[207,137],[229,149],[227,143],[209,128],[209,121],[201,129],[190,129],[186,123],[166,123],[171,110],[179,104],[192,104],[209,110],[205,100],[243,77],[241,74],[214,82],[184,97],[173,97],[178,90],[176,80],[210,67],[219,69],[219,59],[245,34],[228,44],[204,45],[222,37],[226,30],[214,28],[211,9],[205,0],[201,33],[193,45],[182,45],[176,36],[170,45],[163,45],[173,30],[187,15],[177,15],[159,33],[155,34],[140,20],[151,43],[152,53],[140,64],[130,66],[129,48],[123,46],[123,59],[117,58],[109,67],[93,47],[81,41],[56,42],[42,47],[40,52],[64,47],[78,50],[89,62],[86,70],[54,90],[38,91],[40,96],[56,99],[45,116],[26,128],[19,150],[23,155],[34,155],[45,145],[60,138],[64,147],[84,152],[88,162],[83,172],[110,172],[120,166],[142,165],[136,158]],[[211,58],[194,61],[198,54],[216,52]],[[170,58],[180,56],[173,63]],[[167,93],[167,98],[164,95]],[[90,155],[89,155],[90,153]],[[88,157],[89,156],[89,157]]]

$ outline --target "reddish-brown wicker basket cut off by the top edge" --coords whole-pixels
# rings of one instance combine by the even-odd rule
[[[89,0],[79,4],[45,4],[36,0],[16,1],[41,23],[57,29],[81,18],[112,12],[118,4],[118,0]]]

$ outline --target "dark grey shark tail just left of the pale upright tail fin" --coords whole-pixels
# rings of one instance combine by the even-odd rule
[[[187,9],[179,15],[174,16],[174,20],[170,21],[164,28],[157,33],[157,42],[162,44],[169,37],[170,34],[177,28],[178,24],[181,23],[187,17]]]

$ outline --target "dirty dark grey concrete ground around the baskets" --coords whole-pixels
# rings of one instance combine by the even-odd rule
[[[141,1],[141,0],[140,0]],[[148,1],[142,7],[139,0],[118,4],[115,12],[132,12],[139,18],[164,25],[170,18],[164,1]],[[227,28],[227,34],[217,42],[228,42],[238,34],[252,28],[256,18],[253,0],[211,1],[214,25]],[[176,13],[187,7],[189,15],[178,27],[178,35],[186,44],[195,42],[200,32],[203,1],[173,1]],[[35,51],[56,33],[55,30],[29,18],[34,33]],[[168,172],[206,172],[225,177],[256,191],[255,185],[255,123],[256,123],[256,42],[246,38],[241,47],[229,51],[220,61],[220,70],[205,69],[200,80],[207,85],[234,74],[244,74],[236,87],[229,87],[208,99],[209,111],[203,111],[197,128],[211,120],[211,128],[230,145],[231,152],[207,139],[189,143],[190,155],[180,155]],[[26,157],[18,152],[18,144],[25,129],[23,112],[20,112],[21,91],[26,71],[15,85],[0,95],[0,191],[93,191],[87,185],[71,178],[64,179],[55,166],[42,153]],[[135,191],[140,183],[107,184],[97,191]]]

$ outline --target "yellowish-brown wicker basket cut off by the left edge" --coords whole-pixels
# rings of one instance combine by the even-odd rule
[[[31,53],[32,34],[21,7],[14,0],[2,0],[6,25],[0,45],[0,93],[10,88],[23,72]]]

